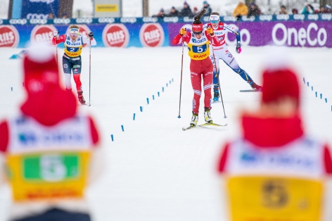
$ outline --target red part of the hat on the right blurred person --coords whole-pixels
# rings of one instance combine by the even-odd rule
[[[300,104],[298,77],[289,67],[267,69],[263,72],[262,103],[277,101],[283,97],[295,99]]]

